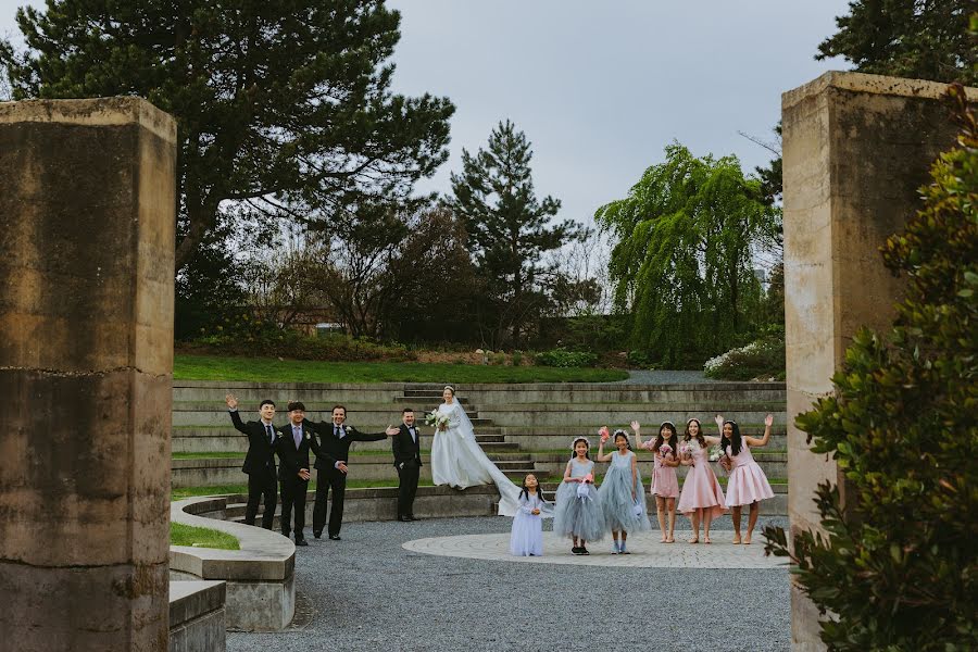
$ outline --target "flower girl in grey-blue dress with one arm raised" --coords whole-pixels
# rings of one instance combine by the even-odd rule
[[[604,511],[605,527],[611,528],[614,546],[612,554],[628,554],[625,541],[628,532],[648,530],[649,515],[645,506],[645,492],[642,491],[642,476],[639,474],[635,453],[629,450],[628,435],[625,430],[615,430],[614,453],[604,454],[604,441],[609,438],[607,428],[601,429],[601,443],[598,444],[598,461],[611,462],[598,496]],[[618,532],[622,543],[618,543]]]

